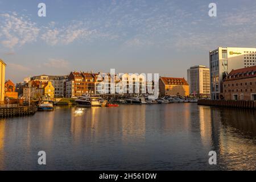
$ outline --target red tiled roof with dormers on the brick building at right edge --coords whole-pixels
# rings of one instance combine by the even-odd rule
[[[223,81],[239,80],[243,78],[256,77],[256,66],[233,69]]]

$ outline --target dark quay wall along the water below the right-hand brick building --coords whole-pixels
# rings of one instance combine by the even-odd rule
[[[199,100],[197,105],[256,109],[256,101]]]

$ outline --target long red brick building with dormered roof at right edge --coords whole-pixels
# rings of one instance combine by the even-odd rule
[[[225,100],[256,101],[256,66],[232,70],[223,80]]]

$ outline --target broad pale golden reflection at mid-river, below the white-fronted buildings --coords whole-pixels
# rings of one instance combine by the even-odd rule
[[[123,107],[121,122],[123,143],[144,141],[146,105]]]

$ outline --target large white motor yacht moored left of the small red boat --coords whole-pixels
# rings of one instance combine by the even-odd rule
[[[75,100],[80,107],[103,107],[106,106],[107,102],[101,97],[82,95]]]

